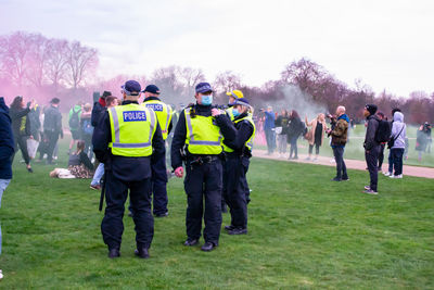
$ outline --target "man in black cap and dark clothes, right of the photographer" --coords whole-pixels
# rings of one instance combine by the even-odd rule
[[[378,181],[379,181],[379,154],[380,143],[378,135],[381,121],[375,115],[378,106],[375,104],[367,104],[363,110],[363,116],[367,118],[367,131],[363,142],[365,159],[368,165],[370,185],[365,187],[363,193],[379,194]],[[388,124],[386,124],[388,126]]]

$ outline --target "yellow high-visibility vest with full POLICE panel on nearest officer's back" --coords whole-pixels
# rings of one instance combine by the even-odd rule
[[[154,111],[130,103],[108,109],[113,155],[142,157],[152,154],[152,138],[156,130]]]

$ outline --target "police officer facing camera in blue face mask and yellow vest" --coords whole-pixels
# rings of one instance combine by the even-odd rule
[[[221,227],[222,138],[234,139],[235,129],[226,114],[212,106],[213,89],[208,83],[195,87],[195,99],[196,104],[186,108],[179,116],[171,143],[171,166],[177,177],[183,176],[181,150],[186,147],[184,245],[199,243],[204,215],[205,243],[201,250],[212,251],[218,245]]]

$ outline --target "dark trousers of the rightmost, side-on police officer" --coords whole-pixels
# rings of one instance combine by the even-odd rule
[[[245,191],[248,159],[228,155],[225,167],[225,200],[227,201],[231,225],[237,228],[247,228],[247,194]]]

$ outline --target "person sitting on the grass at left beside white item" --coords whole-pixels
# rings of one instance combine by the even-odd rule
[[[77,142],[77,151],[69,155],[68,167],[55,168],[50,173],[51,177],[59,178],[92,178],[93,165],[85,153],[85,141]]]

